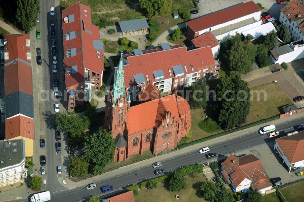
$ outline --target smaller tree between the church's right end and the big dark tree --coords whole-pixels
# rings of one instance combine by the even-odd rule
[[[205,109],[207,106],[207,82],[202,78],[186,88],[189,92],[189,105],[192,109]]]

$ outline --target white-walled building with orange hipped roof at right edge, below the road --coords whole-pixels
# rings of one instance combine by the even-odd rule
[[[304,131],[287,134],[275,139],[275,150],[278,151],[289,168],[289,173],[298,167],[304,167]]]

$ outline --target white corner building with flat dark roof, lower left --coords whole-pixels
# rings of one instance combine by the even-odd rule
[[[23,139],[0,141],[0,187],[24,182],[25,143]]]

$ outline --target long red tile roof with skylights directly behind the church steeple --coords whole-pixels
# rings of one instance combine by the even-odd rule
[[[154,82],[154,71],[163,70],[164,78],[168,79],[174,77],[172,66],[181,65],[184,72],[184,66],[187,66],[188,72],[185,72],[185,74],[189,74],[192,72],[198,72],[199,68],[215,65],[210,47],[198,48],[189,51],[187,51],[186,47],[174,48],[137,56],[130,56],[127,57],[127,60],[129,64],[123,66],[125,70],[124,78],[126,88],[136,86],[133,75],[139,73],[143,73],[144,77],[147,74],[149,79]],[[204,64],[202,64],[202,61]],[[193,65],[194,71],[191,70],[190,64]],[[169,69],[171,69],[172,76],[169,74]],[[133,80],[133,85],[130,83],[130,78]]]

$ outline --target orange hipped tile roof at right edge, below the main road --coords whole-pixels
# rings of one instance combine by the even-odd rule
[[[275,139],[290,163],[304,160],[304,131]]]

